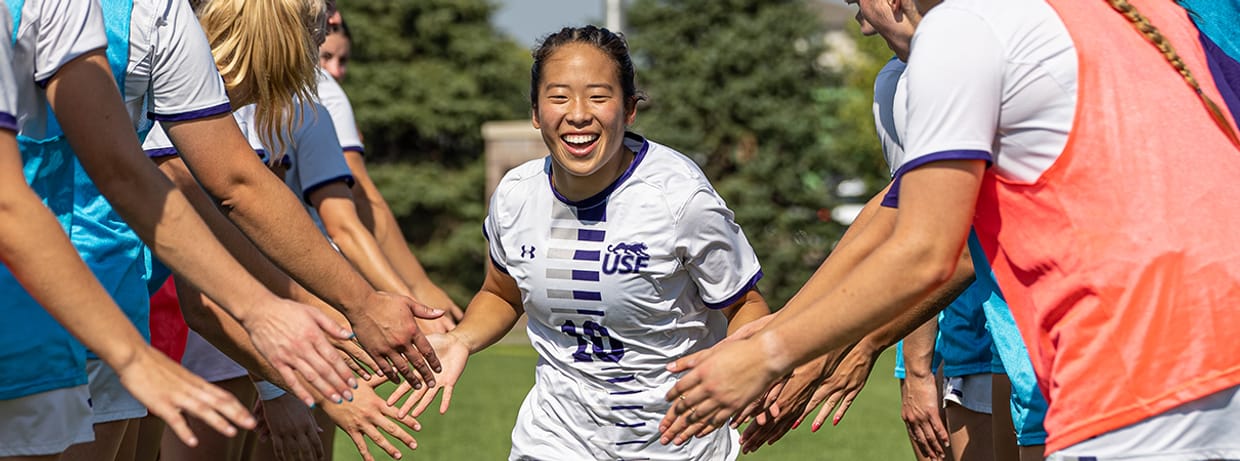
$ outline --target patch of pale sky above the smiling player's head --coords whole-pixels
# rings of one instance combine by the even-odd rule
[[[498,0],[491,21],[525,47],[564,26],[603,25],[604,0]]]

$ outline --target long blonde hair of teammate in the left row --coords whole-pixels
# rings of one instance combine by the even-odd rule
[[[273,165],[301,123],[298,100],[317,100],[324,0],[210,0],[198,7],[211,55],[238,104],[257,104],[255,124]]]

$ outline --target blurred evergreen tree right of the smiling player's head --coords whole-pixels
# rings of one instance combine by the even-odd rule
[[[890,53],[861,40],[842,68],[821,66],[825,52],[848,50],[826,48],[815,5],[636,0],[627,10],[639,86],[650,95],[635,130],[702,165],[758,252],[775,307],[842,234],[830,219],[838,181],[885,183],[869,107]]]

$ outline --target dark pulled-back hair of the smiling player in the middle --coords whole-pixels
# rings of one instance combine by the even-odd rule
[[[559,32],[543,37],[533,50],[534,63],[529,67],[529,103],[536,109],[538,108],[538,86],[542,83],[543,63],[557,50],[569,43],[590,45],[611,57],[619,72],[625,109],[631,109],[630,104],[646,99],[646,94],[637,90],[632,58],[629,57],[629,43],[624,40],[622,33],[596,26],[564,27]]]

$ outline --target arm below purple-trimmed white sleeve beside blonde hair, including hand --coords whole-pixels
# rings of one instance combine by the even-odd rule
[[[439,359],[415,318],[435,318],[441,311],[374,291],[258,160],[231,116],[169,123],[164,129],[226,216],[293,279],[343,312],[389,379],[403,375],[418,387],[422,379],[434,380]]]

